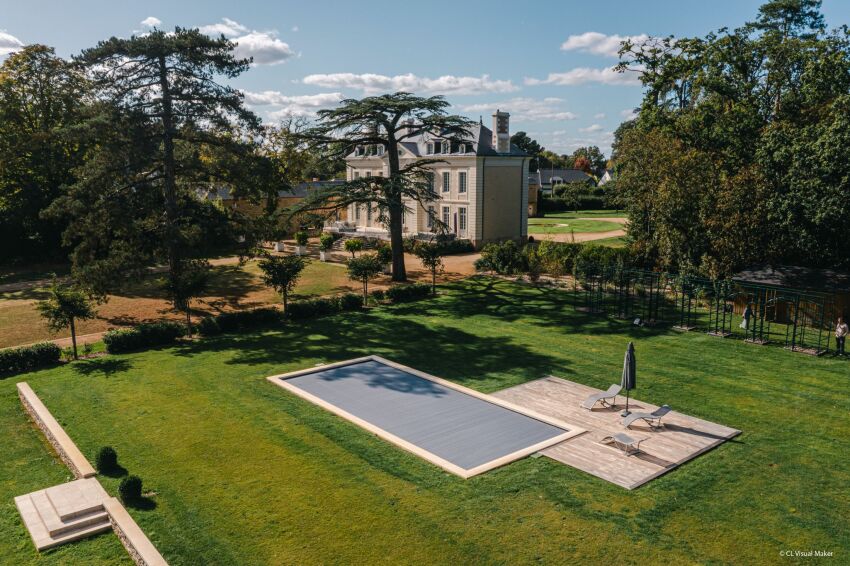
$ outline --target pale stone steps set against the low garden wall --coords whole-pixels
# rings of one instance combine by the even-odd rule
[[[60,484],[15,498],[38,550],[112,528],[104,508],[108,495],[94,478]]]

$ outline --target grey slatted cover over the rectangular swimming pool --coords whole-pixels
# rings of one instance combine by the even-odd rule
[[[377,361],[286,382],[465,470],[566,432]]]

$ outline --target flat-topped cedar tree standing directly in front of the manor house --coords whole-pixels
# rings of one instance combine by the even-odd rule
[[[383,146],[386,177],[361,177],[325,191],[317,191],[295,212],[345,208],[350,204],[371,203],[390,233],[393,250],[393,280],[405,281],[402,218],[405,200],[427,206],[439,197],[429,182],[429,165],[440,159],[419,159],[402,165],[400,144],[428,133],[435,139],[460,143],[469,138],[473,123],[446,111],[449,103],[441,96],[423,98],[406,92],[348,99],[339,108],[320,110],[318,125],[305,132],[304,139],[330,158],[340,158],[356,148]]]

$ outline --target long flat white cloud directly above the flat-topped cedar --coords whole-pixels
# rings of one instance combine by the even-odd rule
[[[332,73],[308,75],[301,82],[324,88],[361,90],[370,94],[406,91],[462,95],[513,92],[518,88],[511,81],[493,80],[489,75],[481,75],[480,77],[444,75],[431,79],[418,77],[413,73],[393,77],[373,73]]]

